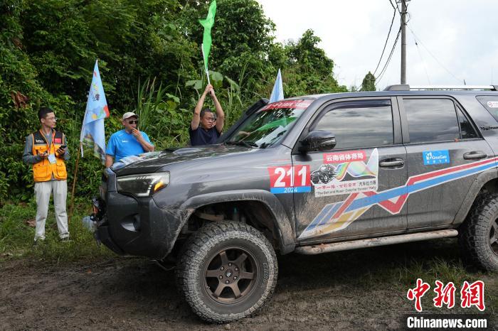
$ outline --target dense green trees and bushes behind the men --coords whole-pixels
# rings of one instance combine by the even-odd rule
[[[206,16],[209,2],[2,1],[0,203],[33,195],[31,167],[21,156],[25,137],[40,126],[41,106],[55,110],[58,129],[68,138],[71,186],[96,59],[111,112],[107,139],[122,128],[124,112],[137,111],[140,129],[157,150],[188,143],[191,112],[206,85],[198,19]],[[218,0],[209,69],[226,127],[256,99],[269,97],[279,68],[287,97],[346,90],[337,85],[334,62],[312,31],[287,44],[275,43],[274,32],[258,2]],[[19,95],[27,99],[19,103]],[[101,172],[97,158],[85,153],[76,196],[95,195]]]

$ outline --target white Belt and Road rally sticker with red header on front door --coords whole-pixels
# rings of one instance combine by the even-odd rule
[[[378,188],[378,151],[324,153],[323,164],[310,174],[315,197],[341,195]]]

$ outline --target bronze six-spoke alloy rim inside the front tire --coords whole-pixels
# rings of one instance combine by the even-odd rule
[[[238,303],[253,291],[258,272],[250,252],[236,246],[223,248],[212,255],[203,270],[204,289],[216,303]]]

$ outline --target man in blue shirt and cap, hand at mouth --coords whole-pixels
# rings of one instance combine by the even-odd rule
[[[137,129],[137,114],[127,112],[123,115],[121,122],[124,129],[112,134],[105,149],[106,168],[114,163],[113,159],[117,162],[126,156],[154,151],[154,145],[150,142],[149,136]]]

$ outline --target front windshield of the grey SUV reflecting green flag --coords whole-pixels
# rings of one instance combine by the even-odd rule
[[[259,148],[277,143],[312,102],[312,99],[300,99],[267,104],[249,116],[226,143]]]

